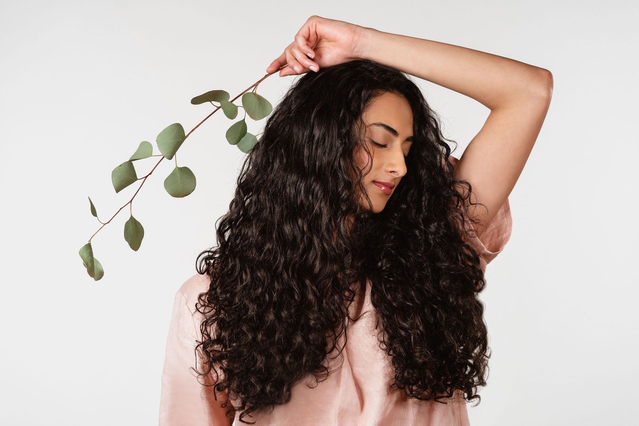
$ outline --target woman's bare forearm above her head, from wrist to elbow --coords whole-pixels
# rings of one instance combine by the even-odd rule
[[[358,57],[428,80],[491,110],[550,96],[548,70],[479,50],[362,27]]]

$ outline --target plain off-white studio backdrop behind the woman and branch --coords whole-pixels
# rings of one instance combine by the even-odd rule
[[[243,154],[215,114],[178,165],[197,177],[174,199],[165,160],[93,238],[102,280],[78,255],[134,194],[111,171],[171,123],[187,132],[265,75],[311,15],[427,38],[547,68],[548,116],[512,191],[511,241],[488,266],[493,356],[471,424],[636,422],[637,6],[601,1],[8,1],[0,6],[0,423],[154,425],[173,296],[215,245]],[[275,105],[296,77],[268,77]],[[489,110],[419,80],[459,142]],[[240,111],[241,112],[241,111]],[[249,132],[265,121],[247,118]],[[143,176],[157,157],[135,162]]]

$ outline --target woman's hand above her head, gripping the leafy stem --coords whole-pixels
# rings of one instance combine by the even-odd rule
[[[366,49],[366,34],[371,30],[343,20],[313,15],[295,34],[295,42],[284,49],[284,53],[266,68],[266,72],[273,73],[281,66],[288,65],[280,70],[280,77],[284,77],[309,72],[311,66],[315,68],[313,71],[318,72],[320,66],[355,61]]]

